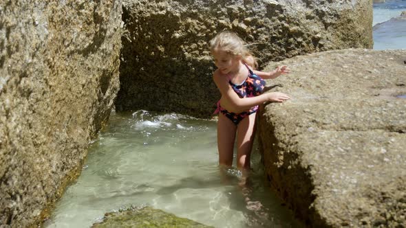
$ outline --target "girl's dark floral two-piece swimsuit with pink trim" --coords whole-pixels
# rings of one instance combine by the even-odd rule
[[[249,71],[248,76],[244,82],[241,84],[234,84],[231,82],[230,76],[228,76],[228,83],[231,85],[235,93],[239,95],[240,98],[252,98],[257,95],[260,95],[264,91],[265,87],[265,81],[257,76],[251,69],[245,65]],[[215,110],[214,114],[217,113],[223,113],[228,119],[231,119],[231,121],[237,125],[239,124],[242,119],[247,117],[248,115],[251,115],[253,113],[256,113],[258,110],[258,106],[253,106],[251,109],[248,111],[244,111],[242,113],[231,113],[224,109],[222,106],[220,106],[220,100],[217,102],[217,109]]]

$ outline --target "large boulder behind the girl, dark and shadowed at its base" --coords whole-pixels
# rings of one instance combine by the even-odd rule
[[[209,116],[220,98],[208,41],[222,30],[259,64],[310,52],[372,47],[372,1],[125,0],[116,109]]]

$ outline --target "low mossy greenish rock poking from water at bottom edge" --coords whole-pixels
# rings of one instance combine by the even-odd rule
[[[197,227],[209,226],[196,223],[187,218],[179,218],[173,214],[152,207],[129,207],[119,212],[106,213],[103,222],[92,227]]]

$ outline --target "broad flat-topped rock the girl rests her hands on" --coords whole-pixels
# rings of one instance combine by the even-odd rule
[[[311,227],[406,224],[406,50],[344,49],[275,65],[292,100],[261,110],[271,185]]]

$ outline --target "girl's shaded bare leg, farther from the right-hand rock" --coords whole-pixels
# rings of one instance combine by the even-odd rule
[[[219,150],[220,166],[233,165],[233,150],[237,126],[222,113],[217,122],[217,148]]]

